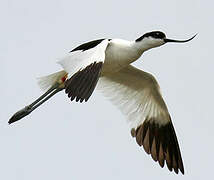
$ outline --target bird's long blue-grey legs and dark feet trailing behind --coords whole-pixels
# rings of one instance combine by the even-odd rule
[[[42,105],[45,101],[50,99],[56,93],[62,91],[64,89],[64,82],[56,82],[50,89],[48,89],[42,96],[36,99],[33,103],[28,106],[25,106],[23,109],[17,111],[8,121],[9,124],[14,123],[23,117],[30,114],[37,107]]]

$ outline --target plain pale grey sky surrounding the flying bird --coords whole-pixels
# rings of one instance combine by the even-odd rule
[[[0,179],[212,179],[212,1],[0,2]],[[11,126],[8,119],[41,95],[36,77],[58,71],[57,58],[98,38],[134,40],[152,30],[198,36],[146,52],[135,65],[158,80],[171,113],[185,175],[160,168],[130,135],[126,118],[95,91],[88,103],[64,92]]]

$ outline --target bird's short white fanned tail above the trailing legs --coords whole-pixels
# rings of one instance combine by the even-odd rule
[[[57,81],[63,78],[67,73],[65,71],[59,71],[48,76],[43,76],[37,78],[38,85],[41,90],[45,91],[51,86],[53,86]]]

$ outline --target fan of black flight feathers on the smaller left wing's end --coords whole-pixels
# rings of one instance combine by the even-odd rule
[[[75,98],[76,102],[89,99],[99,79],[102,65],[102,62],[94,62],[65,82],[65,93],[71,101]]]

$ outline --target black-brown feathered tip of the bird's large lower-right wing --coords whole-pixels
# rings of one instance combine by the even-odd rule
[[[158,161],[160,166],[164,166],[166,161],[170,171],[174,169],[184,174],[184,166],[181,153],[175,134],[174,127],[170,121],[166,125],[158,125],[155,120],[145,120],[136,130],[132,129],[131,134],[136,137],[137,143],[144,147],[144,150],[151,154],[154,161]]]

